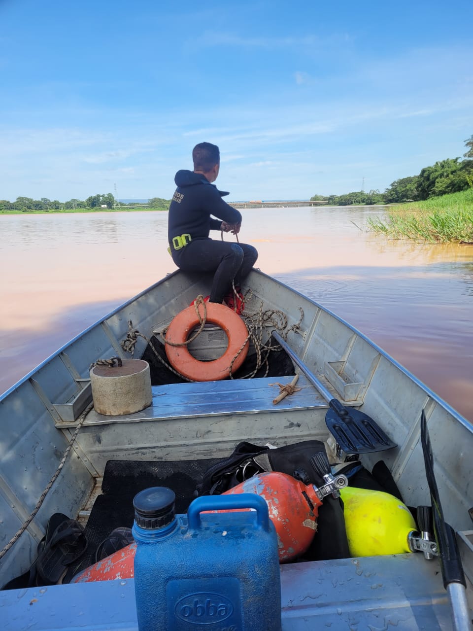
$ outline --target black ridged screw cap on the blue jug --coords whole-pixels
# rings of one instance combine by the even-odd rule
[[[164,528],[175,516],[175,493],[166,487],[145,488],[135,495],[133,506],[137,526],[147,530]]]

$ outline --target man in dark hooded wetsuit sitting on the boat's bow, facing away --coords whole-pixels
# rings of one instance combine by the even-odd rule
[[[194,171],[182,169],[174,178],[177,189],[168,218],[170,252],[183,271],[214,272],[209,301],[221,304],[225,297],[233,297],[232,281],[240,291],[240,283],[250,273],[258,252],[252,245],[209,237],[210,230],[237,235],[242,215],[223,201],[228,192],[219,191],[213,184],[220,167],[218,146],[196,144],[192,160]]]

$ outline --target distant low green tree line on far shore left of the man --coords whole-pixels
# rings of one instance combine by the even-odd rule
[[[151,198],[146,204],[147,208],[157,210],[167,210],[169,208],[170,199],[163,198]],[[26,198],[19,197],[15,201],[8,201],[8,199],[0,199],[0,212],[1,211],[21,211],[22,213],[33,213],[35,211],[44,211],[45,213],[64,210],[87,210],[87,209],[126,209],[129,206],[136,206],[134,202],[124,204],[117,201],[112,193],[91,195],[87,199],[69,199],[69,201],[59,201],[58,199],[48,198]]]

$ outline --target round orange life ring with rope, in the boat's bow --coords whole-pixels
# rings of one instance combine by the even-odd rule
[[[187,346],[170,346],[166,344],[166,355],[173,368],[181,375],[194,381],[218,381],[230,375],[230,364],[248,337],[245,322],[231,309],[216,302],[207,302],[207,320],[216,324],[228,337],[228,348],[218,359],[210,362],[201,362],[192,357]],[[201,317],[204,315],[204,307],[199,305]],[[194,305],[187,307],[176,315],[166,332],[166,341],[182,344],[187,340],[190,331],[199,325],[199,317]],[[231,367],[232,372],[238,370],[245,361],[248,353],[249,342],[245,344]]]

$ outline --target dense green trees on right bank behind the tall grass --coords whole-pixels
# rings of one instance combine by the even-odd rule
[[[344,195],[314,195],[311,201],[326,201],[330,206],[351,204],[398,204],[405,201],[419,201],[447,193],[465,191],[473,187],[473,134],[465,140],[467,151],[465,160],[447,158],[431,167],[421,169],[419,175],[402,177],[392,182],[383,193],[380,191],[355,191]]]

